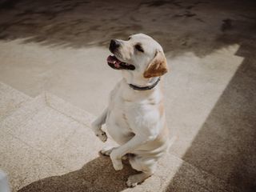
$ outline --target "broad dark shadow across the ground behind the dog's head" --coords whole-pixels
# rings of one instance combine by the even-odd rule
[[[0,4],[0,39],[78,48],[107,46],[111,38],[142,32],[166,52],[200,56],[252,38],[255,5],[234,0],[5,0]]]

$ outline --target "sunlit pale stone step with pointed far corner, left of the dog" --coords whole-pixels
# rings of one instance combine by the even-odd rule
[[[86,111],[46,93],[6,117],[0,124],[0,167],[13,190],[98,157],[102,142],[90,131],[91,120]]]

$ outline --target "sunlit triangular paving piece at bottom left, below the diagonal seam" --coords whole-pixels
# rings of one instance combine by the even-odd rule
[[[57,162],[4,132],[2,127],[0,138],[0,166],[8,174],[13,191],[35,180],[66,173]]]

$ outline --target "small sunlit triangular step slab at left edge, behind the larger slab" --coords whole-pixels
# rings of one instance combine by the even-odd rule
[[[0,82],[0,122],[30,99],[28,95],[21,91]]]

